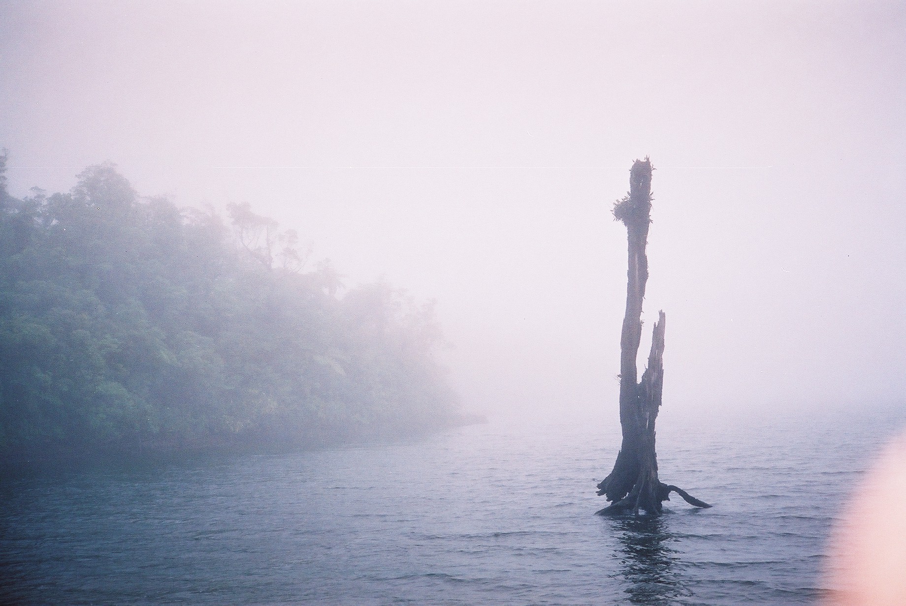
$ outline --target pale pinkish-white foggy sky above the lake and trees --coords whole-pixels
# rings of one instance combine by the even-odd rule
[[[12,194],[248,201],[437,298],[478,412],[615,414],[642,156],[665,409],[900,401],[904,75],[894,2],[0,4]]]

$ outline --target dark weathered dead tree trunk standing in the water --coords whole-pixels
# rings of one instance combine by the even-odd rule
[[[651,225],[651,161],[636,160],[630,170],[630,193],[613,206],[613,216],[626,225],[629,239],[629,271],[626,284],[626,316],[620,338],[620,425],[622,445],[611,474],[598,484],[598,494],[612,504],[599,515],[644,509],[660,514],[661,503],[676,492],[695,507],[711,507],[704,501],[658,479],[654,449],[654,421],[658,418],[664,384],[664,331],[666,319],[659,312],[651,336],[648,367],[637,382],[635,360],[641,344],[641,302],[648,282],[648,228]]]

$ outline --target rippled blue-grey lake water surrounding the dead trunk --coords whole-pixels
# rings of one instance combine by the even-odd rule
[[[811,603],[847,492],[906,424],[665,409],[661,479],[715,507],[635,520],[593,516],[619,446],[605,416],[7,477],[0,602]]]

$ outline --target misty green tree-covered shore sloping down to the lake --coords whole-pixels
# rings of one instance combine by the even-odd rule
[[[247,204],[230,215],[140,198],[112,166],[70,194],[16,200],[0,181],[0,450],[311,444],[454,419],[430,306],[382,283],[338,297],[293,232]]]

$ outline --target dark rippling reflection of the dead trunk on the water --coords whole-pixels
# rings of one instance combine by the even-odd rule
[[[667,544],[672,536],[663,516],[620,517],[612,523],[622,547],[617,556],[623,578],[630,583],[626,592],[631,603],[660,604],[689,596],[679,574],[677,552]]]

